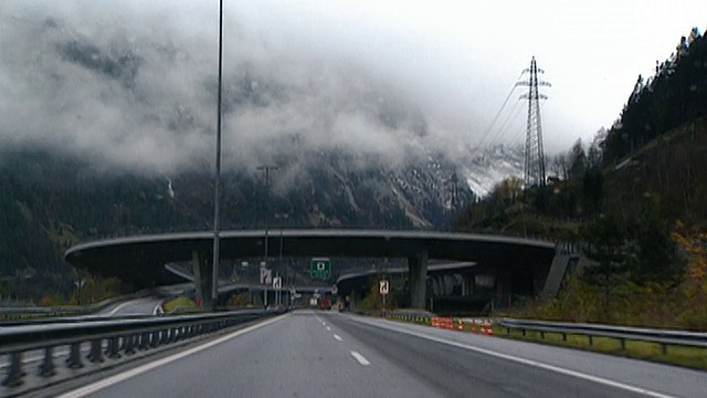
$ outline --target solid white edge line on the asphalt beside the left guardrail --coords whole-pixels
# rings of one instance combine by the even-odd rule
[[[271,324],[273,324],[275,322],[278,322],[278,321],[285,318],[288,315],[289,315],[289,313],[275,316],[274,318],[270,318],[270,320],[264,321],[262,323],[258,323],[258,324],[242,328],[240,331],[235,331],[235,332],[233,332],[233,333],[231,333],[229,335],[225,335],[223,337],[219,337],[219,338],[217,338],[217,339],[214,339],[212,342],[202,344],[200,346],[197,346],[197,347],[193,347],[193,348],[189,348],[187,350],[183,350],[181,353],[178,353],[178,354],[175,354],[175,355],[161,358],[161,359],[154,360],[151,363],[138,366],[136,368],[126,370],[124,373],[110,376],[110,377],[105,378],[103,380],[98,380],[98,381],[89,384],[87,386],[77,388],[77,389],[75,389],[73,391],[68,391],[68,392],[62,394],[56,398],[81,398],[81,397],[85,397],[85,396],[87,396],[89,394],[94,394],[96,391],[99,391],[99,390],[102,390],[102,389],[104,389],[106,387],[113,386],[113,385],[118,384],[120,381],[125,381],[125,380],[127,380],[127,379],[129,379],[131,377],[138,376],[138,375],[140,375],[140,374],[143,374],[145,371],[149,371],[149,370],[155,369],[155,368],[157,368],[159,366],[167,365],[169,363],[172,363],[175,360],[181,359],[181,358],[183,358],[186,356],[189,356],[191,354],[196,354],[196,353],[199,353],[199,352],[204,350],[207,348],[211,348],[211,347],[213,347],[215,345],[219,345],[221,343],[228,342],[231,338],[234,338],[234,337],[238,337],[240,335],[246,334],[249,332],[253,332],[253,331],[258,329],[261,327],[271,325]]]

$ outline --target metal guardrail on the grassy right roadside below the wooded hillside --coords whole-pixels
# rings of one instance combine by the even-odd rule
[[[582,335],[588,337],[590,346],[594,337],[615,338],[622,350],[626,349],[626,341],[659,344],[664,355],[669,345],[707,348],[707,333],[509,318],[496,321],[496,325],[506,328],[506,334],[510,334],[510,329],[520,329],[524,336],[527,331],[539,332],[540,338],[545,338],[546,333],[557,333],[564,342],[568,335]]]

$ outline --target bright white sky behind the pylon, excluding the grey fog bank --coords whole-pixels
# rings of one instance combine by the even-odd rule
[[[244,2],[226,3],[236,9]],[[609,127],[639,73],[650,75],[655,61],[667,59],[693,27],[707,27],[703,0],[257,3],[236,12],[253,15],[253,24],[274,34],[285,33],[283,42],[303,42],[386,71],[449,116],[454,128],[468,126],[472,143],[535,55],[552,84],[544,91],[549,100],[542,109],[552,150]],[[516,109],[521,129],[525,111]],[[507,139],[516,130],[507,132]]]

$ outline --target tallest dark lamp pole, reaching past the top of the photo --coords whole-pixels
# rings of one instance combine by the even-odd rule
[[[215,310],[219,298],[219,256],[220,237],[219,237],[219,219],[220,219],[220,188],[221,188],[221,80],[223,75],[223,0],[219,1],[219,88],[217,101],[217,175],[213,182],[213,269],[211,280],[211,310]],[[199,283],[199,282],[198,282]]]

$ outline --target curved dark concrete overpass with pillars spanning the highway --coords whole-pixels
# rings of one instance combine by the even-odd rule
[[[540,294],[552,275],[556,247],[552,242],[433,231],[302,229],[270,233],[264,230],[221,232],[222,259],[262,255],[284,256],[401,258],[408,261],[411,306],[425,307],[430,259],[471,261],[475,272],[494,279],[499,295]],[[106,239],[68,249],[68,263],[104,276],[116,276],[144,287],[169,283],[176,277],[166,263],[191,261],[202,292],[211,291],[211,231],[163,233]],[[556,261],[557,262],[557,261]],[[555,272],[557,273],[557,272]],[[170,281],[171,277],[171,281]],[[207,295],[204,304],[209,303]]]

